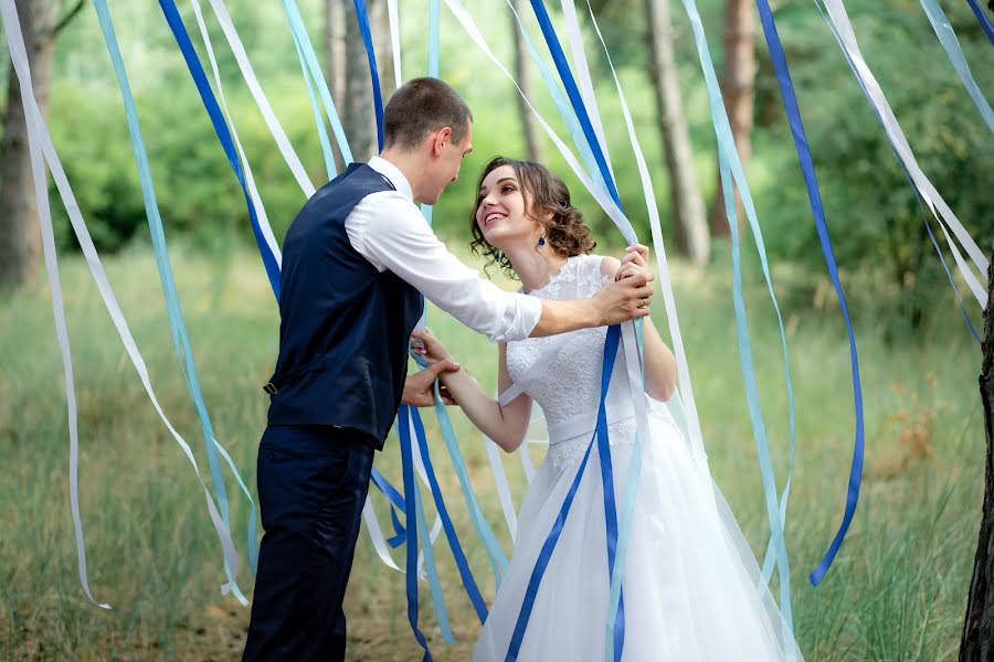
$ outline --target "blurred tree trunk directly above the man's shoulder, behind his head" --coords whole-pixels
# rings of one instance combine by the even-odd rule
[[[369,75],[369,63],[366,46],[359,33],[359,22],[350,0],[339,0],[345,6],[345,95],[341,97],[341,122],[349,146],[352,148],[352,160],[368,161],[379,153],[377,145],[377,118],[373,111],[372,84]],[[369,22],[372,34],[382,35],[383,0],[367,2]],[[382,57],[383,50],[377,52],[377,60]]]

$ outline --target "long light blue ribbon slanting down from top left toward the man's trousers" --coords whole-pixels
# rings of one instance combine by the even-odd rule
[[[114,23],[110,19],[110,12],[107,9],[106,0],[93,0],[93,4],[94,9],[96,9],[97,18],[101,23],[101,30],[104,35],[104,41],[107,45],[107,51],[114,65],[114,73],[117,76],[117,84],[120,88],[121,99],[124,100],[125,116],[127,117],[128,124],[128,135],[131,140],[131,150],[135,153],[135,162],[138,167],[138,178],[141,184],[141,195],[145,201],[145,212],[146,216],[148,217],[148,227],[149,233],[151,234],[152,248],[156,256],[156,265],[159,269],[159,280],[162,284],[162,292],[166,297],[166,309],[169,314],[169,328],[172,333],[172,343],[176,348],[177,356],[179,356],[180,359],[180,370],[182,371],[183,377],[187,382],[187,391],[190,394],[190,399],[193,401],[193,406],[197,409],[198,417],[200,418],[200,426],[203,434],[203,442],[207,450],[208,463],[211,468],[211,483],[214,488],[218,511],[221,514],[221,519],[224,522],[224,525],[230,530],[231,520],[229,512],[228,490],[224,485],[224,477],[221,472],[221,463],[218,457],[218,451],[220,450],[224,456],[224,459],[228,461],[232,473],[235,477],[235,480],[239,482],[242,491],[245,493],[246,499],[248,499],[248,564],[252,568],[252,572],[255,573],[256,565],[258,563],[258,543],[256,542],[255,531],[255,502],[252,499],[251,492],[245,487],[245,483],[242,480],[242,477],[239,473],[234,461],[214,437],[214,429],[211,425],[211,418],[208,414],[207,405],[203,402],[203,394],[200,388],[200,378],[197,372],[197,364],[193,360],[193,350],[190,346],[190,337],[187,332],[187,325],[183,321],[182,309],[180,308],[179,297],[177,296],[176,291],[176,281],[173,279],[172,268],[169,263],[169,254],[166,249],[166,233],[162,227],[162,218],[159,214],[159,206],[156,201],[156,191],[152,184],[151,169],[148,164],[148,151],[145,148],[145,140],[141,136],[141,128],[138,121],[138,109],[135,105],[135,98],[131,94],[131,87],[128,83],[127,73],[125,72],[124,61],[120,56],[120,47],[117,43],[117,38],[114,32]],[[242,595],[241,589],[234,581],[235,578],[231,576],[231,568],[228,566],[226,562],[224,564],[224,572],[228,575],[229,581],[232,583],[232,589],[235,594],[235,597],[237,597],[241,601],[245,601],[244,595]]]

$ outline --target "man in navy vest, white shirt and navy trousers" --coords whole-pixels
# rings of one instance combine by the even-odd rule
[[[405,378],[424,297],[491,341],[550,335],[648,313],[651,277],[592,299],[505,292],[463,265],[415,203],[434,204],[472,149],[469,108],[435,78],[399,88],[383,151],[318,190],[286,234],[279,355],[258,449],[265,530],[244,660],[342,660],[342,598],[373,453],[404,402],[432,403],[437,364]]]

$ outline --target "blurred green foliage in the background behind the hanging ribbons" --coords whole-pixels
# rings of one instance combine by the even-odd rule
[[[700,4],[716,64],[721,66],[722,3]],[[309,102],[295,50],[278,3],[229,2],[262,85],[284,129],[316,185],[327,173],[320,156]],[[311,38],[320,50],[322,4],[300,3]],[[402,43],[405,77],[424,71],[423,0],[403,6]],[[628,104],[653,174],[663,214],[669,226],[669,191],[656,126],[656,107],[645,62],[647,57],[641,2],[595,3],[600,24],[620,68]],[[849,2],[863,51],[908,134],[924,172],[986,250],[994,234],[994,200],[986,193],[994,179],[992,137],[963,90],[945,53],[913,0],[884,3]],[[582,7],[581,7],[582,8]],[[706,199],[715,186],[715,138],[697,55],[680,2],[672,1],[677,65],[695,153],[694,169]],[[994,70],[981,63],[990,44],[965,4],[947,8],[982,89],[994,89]],[[253,243],[245,200],[214,136],[200,98],[157,8],[114,7],[125,63],[135,87],[141,127],[167,236],[188,236],[204,250],[228,250],[235,243]],[[188,7],[184,20],[201,61],[208,66],[199,31]],[[277,238],[304,201],[268,129],[255,108],[209,7],[204,4],[234,126],[253,168],[256,183]],[[498,56],[511,63],[512,22],[500,0],[474,3],[474,18],[486,24],[487,40]],[[826,215],[844,278],[858,282],[875,312],[896,320],[920,321],[937,296],[950,297],[945,275],[926,232],[922,210],[906,181],[886,136],[863,98],[825,21],[814,7],[790,2],[775,9],[801,110],[825,202]],[[583,20],[583,12],[581,22]],[[535,18],[522,12],[532,40],[549,62]],[[559,17],[553,13],[553,20]],[[495,154],[524,157],[517,90],[467,41],[443,10],[442,75],[474,108],[473,154],[457,182],[443,195],[436,213],[438,234],[457,246],[468,238],[466,224],[476,175]],[[561,24],[561,23],[560,23]],[[609,151],[624,209],[639,237],[648,225],[642,185],[628,148],[621,107],[600,42],[586,26],[588,58],[605,120]],[[761,32],[757,31],[755,119],[750,184],[774,265],[794,268],[787,293],[808,306],[812,292],[827,276],[811,218],[790,129]],[[93,12],[83,12],[60,36],[50,127],[63,157],[84,216],[102,250],[117,250],[131,241],[147,242],[145,210],[128,141],[116,82]],[[381,60],[384,55],[381,53]],[[551,65],[550,65],[551,66]],[[912,75],[909,75],[911,73]],[[392,82],[384,79],[389,90]],[[553,129],[570,138],[541,78],[532,76],[532,97]],[[339,105],[341,105],[340,100]],[[572,174],[551,142],[546,160],[570,185],[577,206],[586,214],[600,246],[617,249],[622,239],[607,216]],[[74,239],[61,205],[53,205],[63,247]],[[943,244],[938,224],[932,228]],[[747,256],[750,250],[747,250]],[[721,258],[722,248],[716,249]],[[966,295],[965,286],[958,281]],[[882,303],[880,302],[882,301]],[[857,309],[859,303],[857,302]]]

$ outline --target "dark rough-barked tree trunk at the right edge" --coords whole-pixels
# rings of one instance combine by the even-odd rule
[[[981,515],[973,579],[966,600],[966,619],[960,642],[960,662],[994,660],[994,256],[987,268],[987,308],[984,311],[983,362],[980,392],[984,404],[984,433],[987,441],[984,462],[984,505]]]

